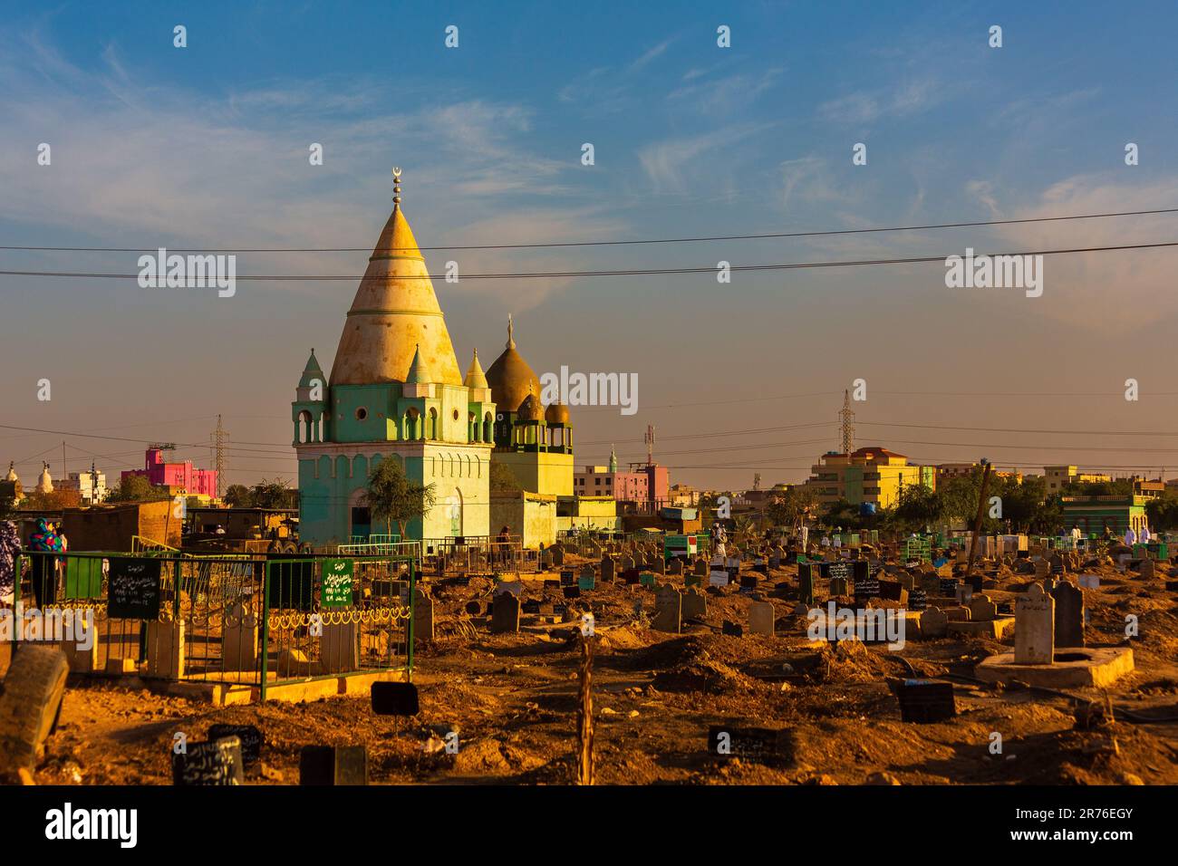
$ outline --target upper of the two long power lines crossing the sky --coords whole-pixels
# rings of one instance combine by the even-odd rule
[[[695,244],[716,240],[773,240],[780,238],[818,238],[839,234],[874,234],[880,232],[932,231],[935,229],[975,229],[993,225],[1020,225],[1025,223],[1057,223],[1077,219],[1105,219],[1110,217],[1143,217],[1162,213],[1178,213],[1178,207],[1162,207],[1149,211],[1114,211],[1108,213],[1079,213],[1060,217],[1026,217],[1021,219],[984,219],[959,223],[931,223],[927,225],[894,225],[873,229],[833,229],[806,232],[768,232],[763,234],[709,234],[684,238],[643,238],[638,240],[569,240],[542,244],[465,244],[456,246],[390,247],[393,252],[410,249],[438,250],[541,250],[570,246],[638,246],[646,244]],[[171,252],[369,252],[370,246],[276,246],[276,247],[174,247]],[[144,252],[146,247],[131,246],[0,246],[0,250],[32,252]]]

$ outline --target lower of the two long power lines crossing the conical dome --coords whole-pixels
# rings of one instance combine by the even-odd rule
[[[1156,244],[1118,244],[1116,246],[1076,246],[1058,250],[1021,250],[1018,252],[991,252],[975,253],[974,258],[1002,258],[1025,256],[1066,256],[1079,252],[1119,252],[1125,250],[1156,250],[1163,247],[1178,246],[1178,240],[1166,240]],[[853,259],[840,262],[795,262],[779,263],[769,265],[729,265],[730,272],[754,272],[754,271],[789,271],[812,267],[859,267],[867,265],[912,265],[932,262],[944,263],[952,256],[959,253],[951,252],[948,256],[909,256],[906,258],[881,258],[881,259]],[[617,269],[608,271],[519,271],[502,273],[466,273],[461,279],[556,279],[571,277],[650,277],[671,273],[716,273],[713,265],[703,267],[638,267]],[[66,278],[94,278],[94,279],[139,279],[138,273],[101,273],[94,271],[0,271],[0,276],[8,277],[66,277]],[[240,280],[272,280],[272,282],[356,282],[364,276],[355,275],[297,275],[297,273],[258,273],[238,276]],[[444,280],[446,275],[422,273],[422,275],[398,275],[397,279],[437,279]]]

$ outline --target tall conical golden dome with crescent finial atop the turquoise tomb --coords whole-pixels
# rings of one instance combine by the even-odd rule
[[[399,194],[393,200],[398,204],[380,232],[348,312],[331,384],[405,382],[416,352],[435,382],[461,385],[458,359],[425,259],[401,210]]]

